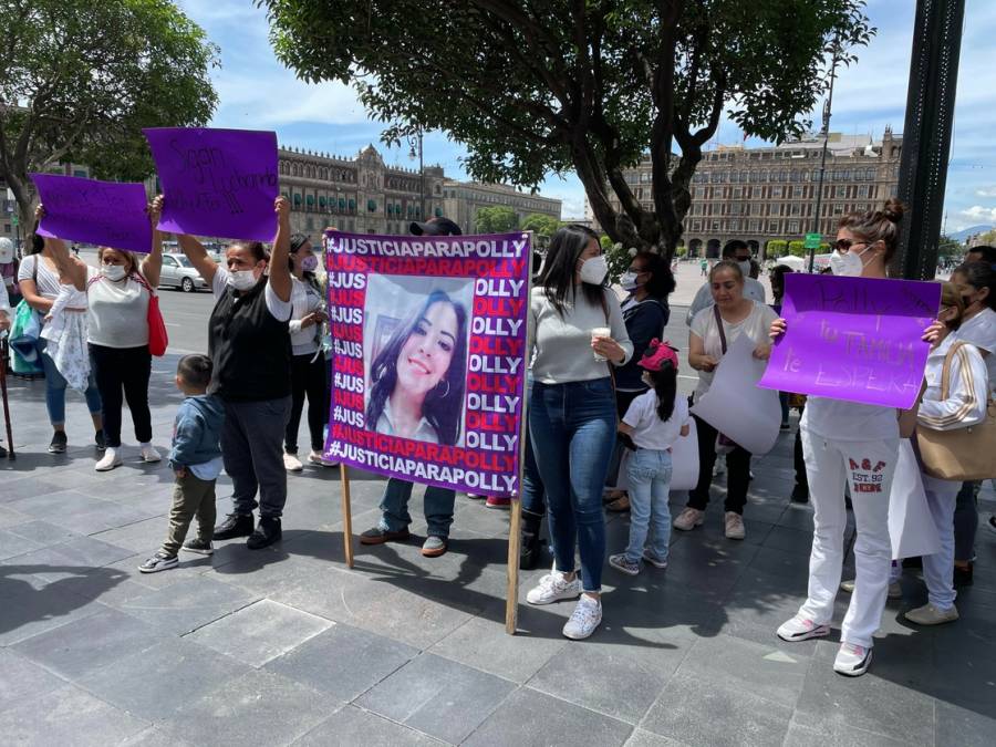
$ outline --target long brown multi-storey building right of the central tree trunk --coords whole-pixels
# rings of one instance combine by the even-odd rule
[[[776,146],[719,146],[703,155],[692,179],[692,208],[683,242],[693,253],[718,257],[733,238],[764,256],[775,239],[801,240],[816,225],[822,135]],[[819,231],[829,241],[841,215],[881,207],[899,184],[902,135],[890,127],[881,141],[830,133]],[[650,157],[625,172],[636,199],[653,209]],[[611,191],[611,190],[610,190]],[[613,200],[619,210],[619,201]]]

